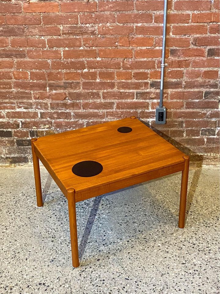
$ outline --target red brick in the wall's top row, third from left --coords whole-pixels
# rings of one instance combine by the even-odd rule
[[[94,12],[97,11],[97,2],[64,2],[60,7],[62,12]]]

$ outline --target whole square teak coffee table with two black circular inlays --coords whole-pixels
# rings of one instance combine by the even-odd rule
[[[37,205],[39,159],[68,200],[72,265],[79,266],[75,203],[182,171],[179,228],[184,228],[189,156],[134,116],[32,138]]]

